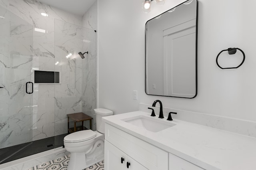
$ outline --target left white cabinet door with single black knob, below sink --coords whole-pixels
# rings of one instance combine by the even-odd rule
[[[126,170],[126,154],[105,140],[104,145],[104,169],[105,170]],[[123,163],[121,163],[123,158]]]

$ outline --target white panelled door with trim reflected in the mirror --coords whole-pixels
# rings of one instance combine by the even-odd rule
[[[196,19],[164,30],[164,95],[193,97],[196,88]]]

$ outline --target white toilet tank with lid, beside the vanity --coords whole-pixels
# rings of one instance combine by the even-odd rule
[[[111,116],[113,115],[113,112],[108,109],[94,109],[95,115],[96,115],[96,130],[101,133],[105,133],[105,125],[104,122],[102,122],[102,117]]]

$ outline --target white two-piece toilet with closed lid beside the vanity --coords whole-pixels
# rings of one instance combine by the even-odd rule
[[[82,170],[104,159],[105,127],[102,117],[113,115],[108,109],[94,109],[96,130],[82,130],[64,137],[64,146],[70,152],[68,170]]]

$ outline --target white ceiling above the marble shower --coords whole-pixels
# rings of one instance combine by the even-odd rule
[[[96,0],[37,0],[66,12],[83,16]]]

